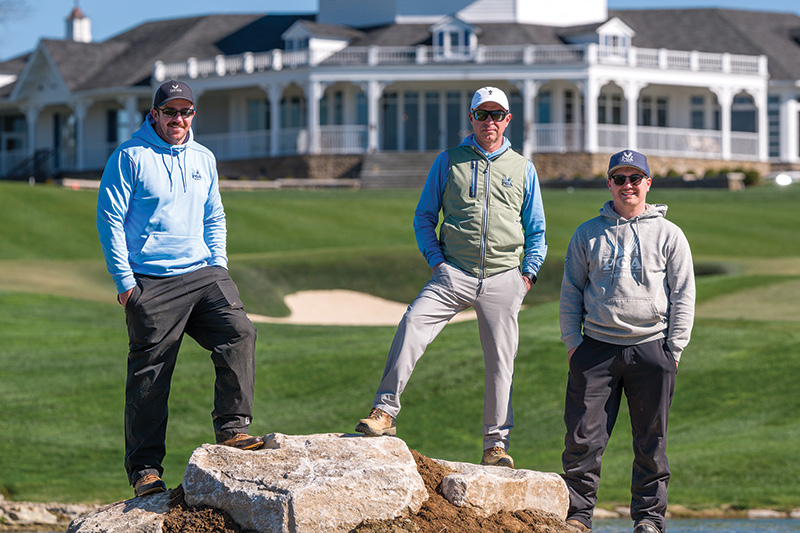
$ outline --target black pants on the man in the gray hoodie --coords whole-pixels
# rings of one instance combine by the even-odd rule
[[[633,434],[631,518],[666,530],[667,421],[677,366],[664,339],[620,346],[584,337],[569,364],[564,423],[564,481],[569,518],[591,527],[600,463],[619,413],[628,400]]]

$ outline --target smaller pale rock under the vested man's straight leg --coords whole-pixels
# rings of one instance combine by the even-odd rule
[[[482,516],[536,509],[567,517],[569,493],[558,474],[435,461],[454,471],[442,480],[442,493],[457,507],[472,507]]]

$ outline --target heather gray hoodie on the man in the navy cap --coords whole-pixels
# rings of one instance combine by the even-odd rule
[[[665,205],[626,220],[607,202],[581,224],[567,249],[559,321],[567,350],[583,335],[631,346],[666,338],[676,361],[694,322],[694,269]]]

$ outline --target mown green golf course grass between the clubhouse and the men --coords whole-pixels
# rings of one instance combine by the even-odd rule
[[[224,193],[230,269],[249,311],[285,315],[301,289],[408,302],[429,275],[416,191]],[[561,470],[566,354],[558,289],[567,242],[607,191],[543,191],[550,251],[520,315],[518,467]],[[658,190],[695,255],[698,318],[670,425],[670,501],[800,507],[800,188]],[[94,227],[96,193],[0,183],[0,492],[32,501],[130,497],[122,467],[127,336]],[[350,432],[377,386],[393,327],[258,324],[253,431]],[[213,438],[212,365],[187,339],[170,400],[165,481]],[[483,364],[474,322],[449,325],[403,396],[399,436],[430,457],[479,460]],[[623,413],[600,503],[626,504]]]

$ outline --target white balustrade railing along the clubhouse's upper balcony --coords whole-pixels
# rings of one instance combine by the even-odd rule
[[[767,75],[766,58],[716,54],[698,51],[603,47],[583,45],[503,45],[440,49],[431,46],[351,46],[329,57],[320,58],[308,50],[270,50],[268,52],[189,58],[181,63],[157,61],[153,75],[157,81],[169,78],[198,78],[251,74],[265,70],[322,65],[425,65],[441,63],[503,63],[518,65],[592,65],[655,68],[694,72],[724,72],[740,75]]]

